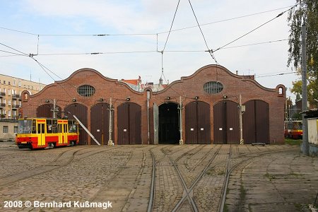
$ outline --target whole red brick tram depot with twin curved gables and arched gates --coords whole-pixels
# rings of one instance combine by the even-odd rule
[[[285,86],[264,88],[252,76],[208,65],[153,92],[80,69],[40,93],[23,91],[23,116],[76,115],[100,143],[284,143]],[[240,132],[240,100],[242,132]],[[110,105],[112,105],[110,110]],[[111,111],[111,118],[110,118]],[[181,122],[180,122],[181,111]],[[180,134],[180,125],[182,131]],[[111,127],[110,127],[111,126]],[[111,130],[110,130],[111,129]],[[81,144],[95,144],[80,130]]]

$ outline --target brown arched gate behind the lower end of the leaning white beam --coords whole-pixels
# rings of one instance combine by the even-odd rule
[[[90,132],[100,144],[108,144],[110,137],[110,105],[107,103],[98,103],[90,108]],[[112,116],[114,123],[114,116]],[[112,124],[114,131],[114,124]],[[112,134],[114,141],[114,134]],[[92,142],[92,144],[97,144]]]

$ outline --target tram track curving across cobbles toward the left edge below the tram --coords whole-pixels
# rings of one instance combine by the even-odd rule
[[[59,155],[57,155],[57,157],[54,158],[48,164],[37,166],[37,167],[33,168],[32,170],[27,170],[25,172],[18,172],[14,175],[8,175],[6,177],[2,177],[2,179],[0,181],[0,189],[2,187],[7,186],[8,184],[13,184],[13,183],[18,182],[18,181],[23,181],[24,179],[29,179],[30,177],[35,177],[37,175],[42,175],[42,174],[45,174],[47,172],[52,172],[54,170],[58,170],[61,167],[65,167],[66,165],[69,165],[70,163],[72,163],[73,159],[76,157],[78,152],[84,151],[88,148],[91,149],[91,147],[83,147],[80,149],[76,148],[76,149],[70,149],[70,150],[64,151],[64,152],[60,153]],[[95,154],[102,153],[105,151],[111,151],[111,150],[114,150],[116,148],[119,148],[119,147],[107,148],[104,150],[99,150],[99,149],[93,150],[92,149],[91,151],[88,151],[88,153],[86,155],[82,156],[81,158],[78,158],[78,160],[81,160],[83,158],[87,158],[91,155],[95,155]],[[70,154],[68,155],[66,153],[70,153]],[[66,156],[66,158],[64,158],[64,156]],[[64,161],[66,161],[66,162],[64,162]]]

